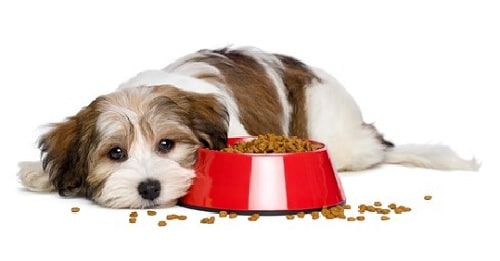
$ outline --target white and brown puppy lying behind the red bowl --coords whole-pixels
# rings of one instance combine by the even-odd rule
[[[479,167],[443,145],[394,146],[320,69],[255,48],[224,48],[142,72],[51,125],[39,140],[41,161],[21,162],[18,176],[29,190],[106,207],[168,207],[190,187],[198,148],[265,133],[324,142],[338,171],[381,163]]]

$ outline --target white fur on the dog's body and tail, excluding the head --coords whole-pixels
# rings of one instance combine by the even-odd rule
[[[281,62],[274,56],[255,48],[242,48],[264,66],[267,76],[276,86],[278,97],[284,110],[283,126],[290,122],[291,107],[286,99],[285,86],[273,66],[280,67]],[[206,53],[214,54],[209,50]],[[230,109],[229,136],[248,135],[239,121],[238,107],[226,89],[221,89],[206,81],[193,78],[199,74],[214,74],[217,68],[201,62],[187,62],[191,58],[200,57],[203,52],[190,54],[167,66],[165,71],[147,71],[131,79],[123,87],[140,84],[172,84],[183,89],[199,93],[216,93]],[[479,164],[475,159],[460,158],[449,147],[444,145],[396,145],[386,150],[376,138],[377,133],[364,128],[363,117],[359,106],[346,89],[330,74],[319,68],[311,68],[321,82],[314,81],[306,89],[306,110],[308,118],[307,130],[310,138],[324,142],[335,167],[339,171],[363,170],[380,163],[401,163],[416,167],[435,168],[441,170],[477,170]],[[288,130],[284,128],[284,133]]]

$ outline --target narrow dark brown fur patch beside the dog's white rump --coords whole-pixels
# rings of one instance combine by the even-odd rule
[[[283,63],[283,83],[288,90],[288,102],[292,105],[290,135],[308,138],[305,90],[313,80],[321,80],[301,61],[279,54],[276,57]]]

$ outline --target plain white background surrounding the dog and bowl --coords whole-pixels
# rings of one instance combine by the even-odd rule
[[[495,1],[2,1],[1,260],[499,260],[500,8]],[[203,48],[253,45],[322,67],[397,143],[442,142],[479,172],[382,166],[342,174],[348,203],[412,207],[382,222],[217,219],[33,194],[17,162],[38,129],[145,69]],[[423,196],[431,194],[431,201]],[[81,212],[71,214],[72,206]],[[188,220],[156,226],[169,213]],[[351,212],[353,214],[353,212]],[[6,256],[10,255],[10,258]],[[175,256],[175,257],[174,257]]]

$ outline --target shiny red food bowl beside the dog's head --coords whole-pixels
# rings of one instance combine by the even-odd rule
[[[255,137],[233,137],[228,145]],[[324,144],[295,153],[199,149],[196,177],[179,205],[241,214],[309,212],[343,204],[345,196]]]

